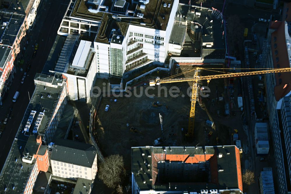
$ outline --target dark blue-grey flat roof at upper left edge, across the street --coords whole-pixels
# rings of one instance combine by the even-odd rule
[[[0,11],[0,43],[13,46],[25,15]],[[4,24],[5,23],[5,24]]]

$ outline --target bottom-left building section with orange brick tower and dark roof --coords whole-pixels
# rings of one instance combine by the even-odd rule
[[[40,135],[15,139],[0,175],[2,191],[32,193],[38,174],[47,172],[48,167],[47,147],[42,145]]]

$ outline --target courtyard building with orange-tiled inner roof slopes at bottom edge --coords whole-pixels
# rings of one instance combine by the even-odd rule
[[[236,146],[132,147],[132,193],[243,193]]]

